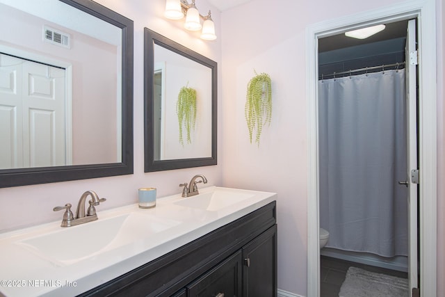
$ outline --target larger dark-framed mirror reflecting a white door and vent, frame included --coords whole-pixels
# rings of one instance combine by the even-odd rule
[[[0,0],[0,187],[133,173],[133,21]]]

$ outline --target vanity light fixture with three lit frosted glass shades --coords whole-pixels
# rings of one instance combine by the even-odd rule
[[[187,0],[166,0],[164,16],[168,19],[182,19],[186,17],[184,28],[189,31],[201,31],[201,38],[204,40],[215,40],[215,23],[211,19],[211,13],[206,16],[200,15],[195,6],[195,0],[189,4]],[[201,24],[201,19],[204,20]]]

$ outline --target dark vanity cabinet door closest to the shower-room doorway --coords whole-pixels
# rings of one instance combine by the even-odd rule
[[[277,225],[243,247],[243,297],[277,297]]]

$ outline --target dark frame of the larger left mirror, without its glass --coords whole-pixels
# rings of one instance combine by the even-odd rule
[[[60,1],[122,29],[122,162],[0,170],[0,188],[133,174],[133,21],[94,1]]]

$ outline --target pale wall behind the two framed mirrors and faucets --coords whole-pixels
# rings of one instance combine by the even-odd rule
[[[188,33],[182,29],[183,22],[172,22],[163,17],[164,0],[96,0],[98,3],[117,11],[134,22],[134,174],[121,177],[104,177],[84,179],[72,182],[41,184],[0,188],[0,232],[23,226],[61,220],[60,212],[52,211],[53,207],[72,203],[76,205],[81,194],[87,190],[96,191],[99,196],[107,198],[98,211],[136,203],[137,189],[143,186],[154,186],[159,197],[181,193],[179,183],[189,182],[193,175],[206,175],[209,184],[219,185],[220,165],[205,166],[165,172],[144,173],[144,138],[143,138],[143,29],[147,27],[182,45],[211,58],[220,64],[220,13],[207,1],[200,0],[202,11],[212,10],[212,19],[216,23],[218,40],[206,42],[200,40],[198,33]],[[220,77],[220,74],[218,75]],[[220,95],[220,94],[219,94]],[[92,145],[85,143],[85,145]]]

